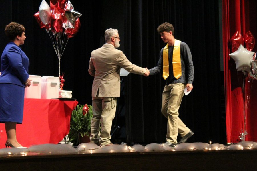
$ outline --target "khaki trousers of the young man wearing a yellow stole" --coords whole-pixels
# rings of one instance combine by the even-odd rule
[[[177,143],[178,133],[183,137],[190,131],[178,117],[185,87],[182,83],[165,85],[162,93],[162,114],[168,119],[166,139],[174,144]]]

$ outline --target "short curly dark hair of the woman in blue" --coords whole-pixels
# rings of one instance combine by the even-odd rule
[[[5,26],[5,34],[9,40],[14,40],[17,35],[21,36],[25,32],[25,28],[22,24],[11,22]]]

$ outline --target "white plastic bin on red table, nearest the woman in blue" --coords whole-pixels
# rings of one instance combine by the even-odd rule
[[[41,76],[29,75],[31,85],[25,88],[25,98],[40,99],[41,98]]]

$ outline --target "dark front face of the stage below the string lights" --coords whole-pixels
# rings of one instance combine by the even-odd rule
[[[256,170],[257,150],[0,156],[0,170]]]

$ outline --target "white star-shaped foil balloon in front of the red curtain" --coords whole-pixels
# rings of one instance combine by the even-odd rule
[[[253,55],[254,52],[246,50],[242,44],[235,52],[229,54],[229,56],[231,56],[231,58],[233,58],[236,62],[237,71],[242,72],[251,72],[251,62],[253,59]]]

